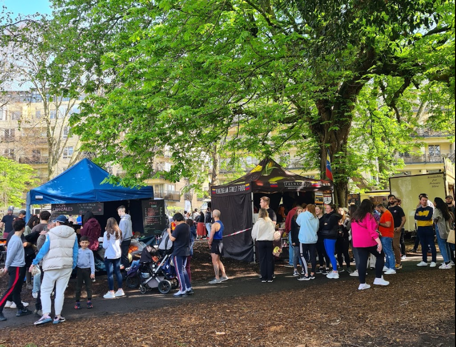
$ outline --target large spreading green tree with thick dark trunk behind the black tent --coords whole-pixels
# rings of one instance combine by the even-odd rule
[[[72,121],[101,163],[127,170],[126,184],[153,175],[164,146],[174,163],[166,175],[178,179],[214,144],[270,156],[294,143],[323,177],[329,151],[344,204],[361,160],[348,146],[352,127],[410,133],[422,102],[427,126],[454,118],[454,1],[53,2],[86,73]]]

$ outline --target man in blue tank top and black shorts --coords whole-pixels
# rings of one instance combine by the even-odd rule
[[[212,265],[214,265],[215,278],[209,282],[209,284],[217,284],[223,281],[228,280],[228,277],[225,273],[225,267],[220,261],[220,256],[222,255],[222,235],[223,235],[223,223],[220,221],[220,211],[212,211],[212,218],[214,218],[214,224],[211,227],[211,233],[209,235],[209,247],[211,249],[211,258]],[[219,277],[219,272],[222,273],[222,277]]]

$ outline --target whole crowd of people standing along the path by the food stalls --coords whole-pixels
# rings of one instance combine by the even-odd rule
[[[437,238],[444,262],[439,269],[451,269],[455,264],[455,245],[448,243],[450,231],[454,230],[455,206],[451,196],[446,201],[436,197],[431,202],[426,194],[420,194],[415,213],[417,239],[422,245],[422,261],[419,267],[428,266],[428,252],[431,252],[430,267],[437,266],[437,252],[434,238]],[[258,221],[252,229],[260,264],[261,282],[274,281],[273,242],[282,238],[276,231],[278,220],[285,224],[289,236],[290,266],[298,281],[309,281],[316,274],[324,274],[329,279],[338,279],[339,273],[347,271],[350,276],[359,277],[359,290],[369,289],[366,283],[368,266],[375,269],[374,285],[388,286],[384,275],[394,275],[402,269],[401,261],[406,258],[404,225],[406,215],[400,206],[400,199],[394,195],[387,203],[374,204],[365,199],[360,206],[351,205],[337,209],[333,204],[324,208],[314,204],[295,206],[288,214],[283,206],[277,214],[269,207],[270,199],[260,199]],[[131,218],[124,206],[117,208],[120,223],[109,218],[103,233],[102,247],[107,273],[108,291],[105,299],[115,299],[125,295],[121,268],[128,271],[128,246],[132,238]],[[224,225],[220,211],[203,214],[195,209],[193,215],[176,213],[173,223],[167,229],[173,243],[173,263],[177,273],[179,291],[174,297],[186,297],[194,293],[191,285],[190,262],[195,239],[206,238],[210,248],[215,277],[209,284],[228,280],[221,256],[223,255]],[[82,226],[75,226],[64,215],[52,215],[41,211],[26,224],[25,211],[19,216],[12,209],[1,223],[6,234],[6,261],[0,275],[8,273],[8,287],[0,299],[0,321],[5,321],[4,308],[16,308],[17,317],[37,314],[40,318],[34,323],[42,325],[65,321],[62,316],[64,292],[69,278],[76,269],[74,309],[81,309],[81,291],[87,293],[87,309],[93,308],[92,282],[95,281],[94,254],[99,249],[98,238],[101,226],[90,211],[82,218]],[[78,228],[78,229],[75,229]],[[78,232],[75,232],[78,230]],[[3,235],[5,235],[3,234]],[[80,246],[80,247],[79,247]],[[415,249],[418,246],[415,247]],[[355,269],[352,269],[352,257]],[[318,258],[317,258],[318,257]],[[317,263],[318,259],[318,263]],[[344,262],[346,269],[344,269]],[[370,265],[368,265],[370,264]],[[302,266],[299,273],[298,266]],[[319,266],[318,266],[319,265]],[[114,291],[114,277],[117,291]],[[35,310],[26,308],[21,301],[22,285],[32,290],[36,299]],[[54,297],[54,317],[51,318],[51,297]]]

